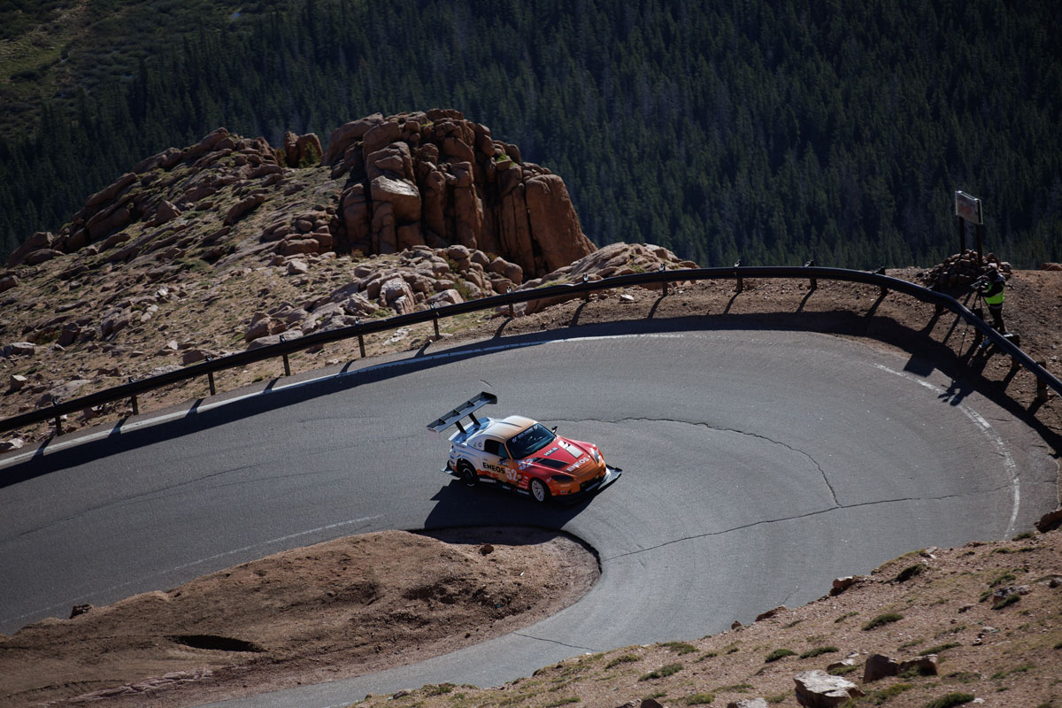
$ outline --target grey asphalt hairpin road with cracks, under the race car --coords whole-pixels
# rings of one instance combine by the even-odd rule
[[[1008,537],[1055,506],[1043,441],[925,362],[823,334],[669,327],[355,362],[342,376],[0,461],[0,632],[383,529],[532,524],[600,554],[587,595],[513,635],[225,704],[347,705],[699,638],[913,549]],[[438,471],[446,439],[425,426],[481,390],[499,397],[492,415],[599,444],[622,479],[569,507],[451,483]]]

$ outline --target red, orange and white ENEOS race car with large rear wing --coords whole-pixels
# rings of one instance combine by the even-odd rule
[[[476,411],[497,402],[497,396],[484,391],[428,424],[436,433],[458,427],[443,472],[468,486],[496,484],[538,502],[600,491],[622,473],[605,464],[597,446],[561,437],[555,426],[549,429],[520,415],[476,417]]]

